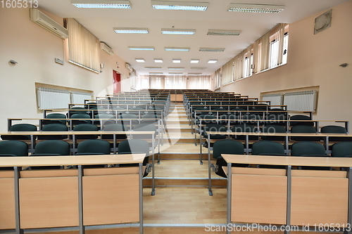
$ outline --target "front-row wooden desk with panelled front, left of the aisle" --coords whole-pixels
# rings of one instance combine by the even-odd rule
[[[143,233],[144,154],[1,157],[0,229],[84,226],[139,222]],[[84,165],[139,167],[84,169]],[[21,167],[78,165],[78,169],[21,171]],[[82,167],[83,166],[83,167]]]

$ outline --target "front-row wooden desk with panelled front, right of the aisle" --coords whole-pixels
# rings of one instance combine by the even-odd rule
[[[310,227],[329,223],[332,228],[351,223],[352,158],[222,157],[228,175],[227,223]],[[231,167],[232,163],[284,165],[287,169]],[[348,172],[295,170],[292,166],[348,167]]]

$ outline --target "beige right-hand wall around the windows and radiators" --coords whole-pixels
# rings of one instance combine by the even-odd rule
[[[324,12],[289,25],[287,65],[222,86],[221,91],[259,97],[263,92],[319,86],[313,119],[352,122],[352,1],[332,8],[332,26],[313,34],[314,20]],[[341,63],[349,65],[339,67]]]

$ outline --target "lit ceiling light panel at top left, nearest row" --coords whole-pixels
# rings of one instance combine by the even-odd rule
[[[77,6],[77,8],[132,8],[132,5],[128,0],[71,0],[71,4]]]

